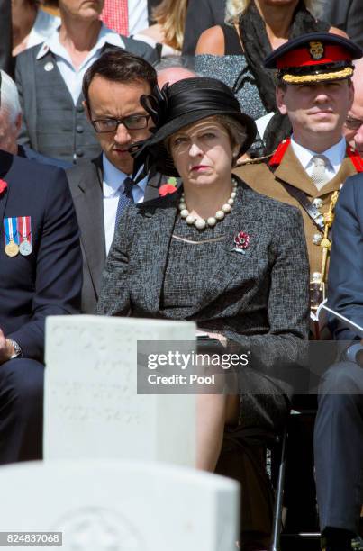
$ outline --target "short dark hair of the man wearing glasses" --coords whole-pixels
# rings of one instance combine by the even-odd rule
[[[157,73],[150,63],[125,50],[104,53],[86,70],[82,85],[86,104],[89,104],[88,90],[95,77],[103,77],[121,84],[147,82],[151,90],[157,85]]]

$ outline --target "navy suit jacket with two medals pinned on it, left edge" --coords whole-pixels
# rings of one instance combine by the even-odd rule
[[[82,285],[78,227],[67,178],[0,151],[0,328],[23,356],[42,361],[46,316],[77,313]],[[4,218],[31,216],[33,251],[5,254]]]

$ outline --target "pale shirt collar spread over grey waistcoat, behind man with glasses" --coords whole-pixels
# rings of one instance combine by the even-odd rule
[[[98,38],[95,43],[95,46],[89,52],[86,59],[83,61],[82,65],[86,63],[87,59],[95,55],[95,51],[101,50],[102,48],[104,48],[105,44],[111,44],[112,46],[117,46],[118,48],[122,48],[123,50],[125,49],[125,43],[121,38],[120,34],[117,34],[117,32],[113,32],[111,29],[106,27],[104,23],[102,23],[101,30],[98,34]],[[55,29],[55,31],[52,32],[50,37],[42,43],[41,50],[39,50],[36,59],[43,58],[45,54],[48,53],[49,51],[51,51],[56,56],[66,59],[68,62],[71,63],[68,51],[59,42],[59,27]]]

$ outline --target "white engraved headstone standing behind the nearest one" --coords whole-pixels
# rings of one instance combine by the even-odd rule
[[[138,340],[155,341],[150,348],[160,341],[183,341],[181,346],[191,348],[195,323],[101,316],[47,319],[44,459],[106,457],[195,465],[195,395],[138,394]]]

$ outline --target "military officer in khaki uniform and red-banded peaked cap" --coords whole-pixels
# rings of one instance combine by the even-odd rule
[[[311,266],[312,307],[324,298],[331,224],[341,185],[363,172],[363,161],[342,137],[353,102],[353,59],[363,51],[330,33],[286,42],[265,61],[277,69],[277,107],[292,136],[268,158],[245,161],[235,172],[262,194],[299,207]]]

